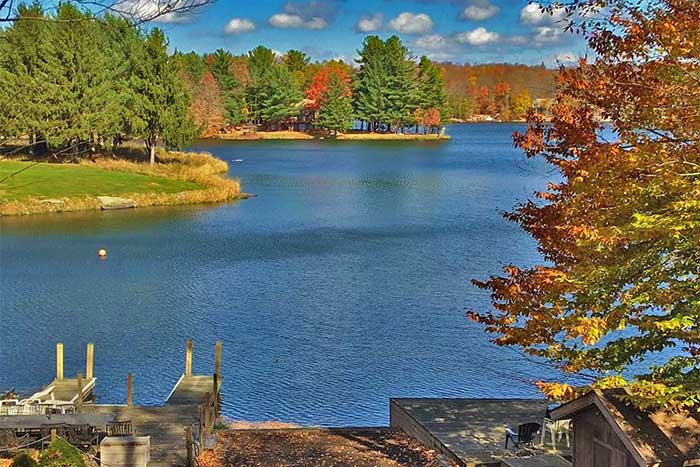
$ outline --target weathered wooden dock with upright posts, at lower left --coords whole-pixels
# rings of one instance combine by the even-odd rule
[[[201,447],[207,443],[219,417],[222,381],[221,342],[216,344],[213,375],[194,375],[192,357],[190,339],[187,341],[185,351],[185,371],[163,405],[157,407],[133,405],[133,378],[130,373],[126,378],[126,404],[103,405],[94,403],[93,397],[93,389],[96,385],[96,378],[93,376],[94,346],[88,344],[86,378],[83,378],[80,373],[76,378],[65,378],[63,344],[59,343],[56,345],[56,379],[28,399],[18,401],[18,404],[28,404],[26,407],[33,411],[41,407],[42,410],[47,410],[49,415],[32,413],[31,416],[25,416],[16,409],[15,414],[0,415],[0,429],[5,426],[6,429],[22,430],[29,427],[29,424],[37,423],[40,428],[50,423],[58,423],[56,420],[63,420],[60,423],[73,425],[88,420],[89,425],[105,430],[108,423],[130,422],[134,435],[151,437],[149,467],[190,467],[194,465],[192,456],[197,450],[195,447]],[[66,412],[66,414],[51,415],[56,411]],[[75,413],[68,413],[68,411]]]

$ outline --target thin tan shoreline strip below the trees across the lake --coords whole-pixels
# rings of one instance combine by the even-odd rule
[[[303,131],[256,131],[250,133],[219,133],[210,138],[220,141],[449,141],[449,135],[414,133],[339,133],[313,135]]]

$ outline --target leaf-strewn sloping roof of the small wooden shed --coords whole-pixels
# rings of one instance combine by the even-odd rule
[[[643,411],[620,397],[627,394],[625,389],[595,389],[551,416],[572,418],[595,405],[640,465],[700,466],[700,414]]]

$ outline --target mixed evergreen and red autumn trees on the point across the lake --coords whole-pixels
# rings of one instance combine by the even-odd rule
[[[312,63],[302,51],[283,56],[263,46],[235,56],[219,49],[177,52],[174,61],[193,96],[204,134],[227,125],[347,131],[434,131],[448,116],[442,69],[420,60],[396,37],[368,36],[356,68]]]

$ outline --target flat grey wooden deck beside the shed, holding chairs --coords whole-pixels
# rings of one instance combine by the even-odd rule
[[[392,428],[400,428],[458,465],[500,462],[505,429],[542,423],[540,399],[390,399]]]

